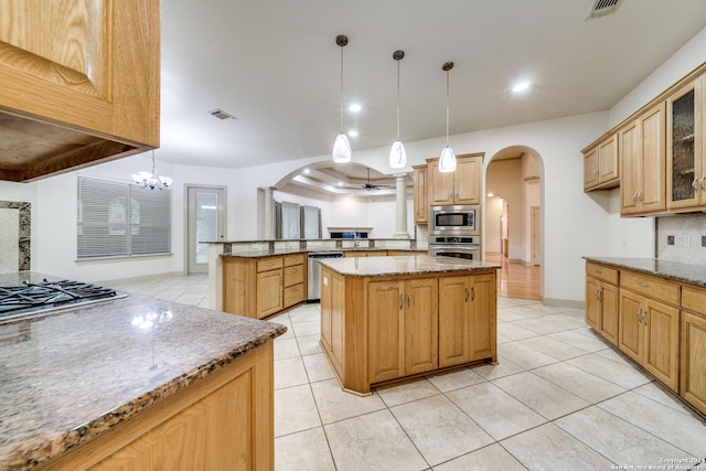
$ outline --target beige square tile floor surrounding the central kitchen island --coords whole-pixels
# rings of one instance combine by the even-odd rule
[[[207,306],[204,276],[116,288]],[[706,421],[582,311],[509,298],[498,308],[499,365],[368,397],[339,387],[318,343],[319,304],[272,319],[288,328],[275,341],[276,469],[706,470]]]

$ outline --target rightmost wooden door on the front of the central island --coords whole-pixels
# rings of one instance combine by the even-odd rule
[[[470,277],[469,353],[468,360],[492,357],[495,361],[495,275]]]

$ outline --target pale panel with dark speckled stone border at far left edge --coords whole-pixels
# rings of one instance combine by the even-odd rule
[[[0,272],[30,269],[32,205],[0,201]]]

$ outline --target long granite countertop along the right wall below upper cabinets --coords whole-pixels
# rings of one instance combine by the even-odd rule
[[[706,287],[706,265],[661,260],[659,258],[584,257],[584,259]]]

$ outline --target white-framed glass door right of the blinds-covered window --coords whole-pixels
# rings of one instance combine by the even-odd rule
[[[226,199],[223,186],[186,186],[186,246],[189,274],[208,272],[208,245],[225,240]]]

